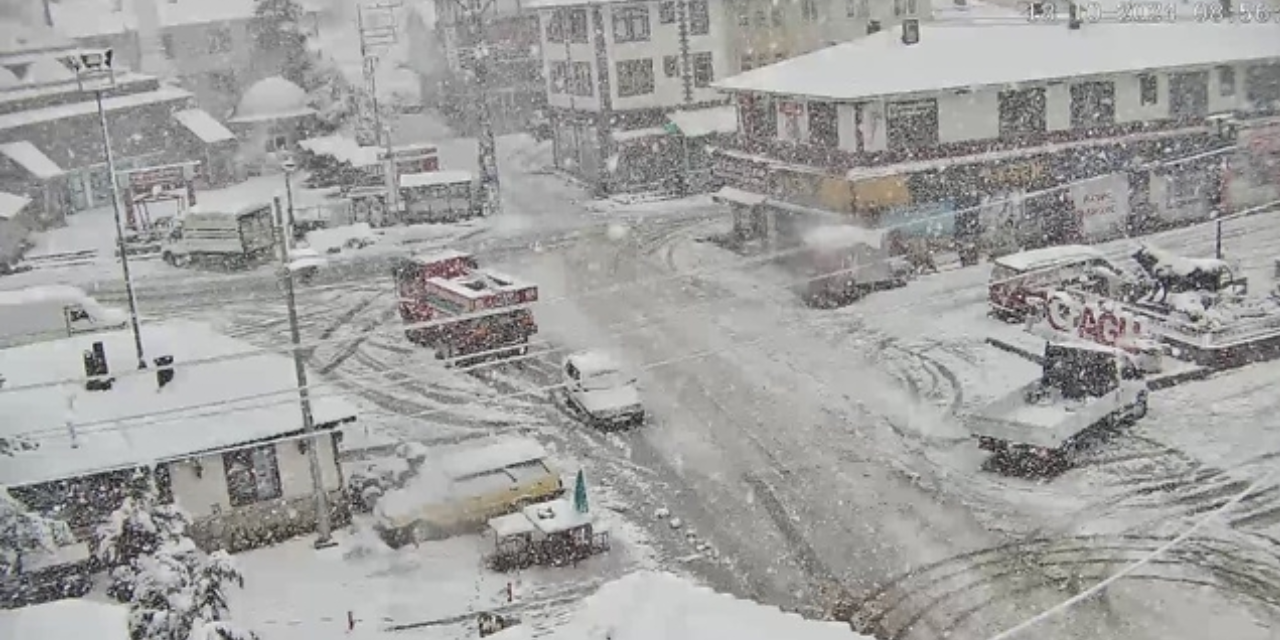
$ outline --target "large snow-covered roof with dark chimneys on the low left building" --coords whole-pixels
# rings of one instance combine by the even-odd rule
[[[83,352],[101,340],[115,384],[90,392],[82,384],[19,387],[83,379]],[[0,351],[0,436],[26,435],[38,447],[0,465],[0,485],[77,477],[300,433],[292,360],[192,321],[148,324],[142,340],[150,358],[173,356],[174,379],[163,389],[155,375],[136,375],[128,330],[77,335]],[[183,362],[223,358],[183,367]],[[128,375],[134,374],[134,375]],[[261,397],[265,393],[276,396]],[[251,401],[237,399],[256,397]],[[342,397],[312,397],[317,425],[351,420]],[[134,419],[141,413],[152,417]],[[68,422],[74,425],[74,442]]]

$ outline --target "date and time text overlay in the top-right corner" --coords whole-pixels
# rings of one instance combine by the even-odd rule
[[[1018,12],[1030,23],[1065,23],[1071,3],[1020,1]],[[1082,1],[1075,3],[1076,18],[1084,23],[1206,23],[1206,24],[1280,24],[1280,9],[1266,1],[1233,3],[1215,0],[1164,1]]]

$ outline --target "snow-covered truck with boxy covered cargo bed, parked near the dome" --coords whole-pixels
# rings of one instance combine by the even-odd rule
[[[174,266],[211,261],[242,268],[271,257],[275,242],[270,202],[225,211],[192,207],[173,228],[160,256]]]

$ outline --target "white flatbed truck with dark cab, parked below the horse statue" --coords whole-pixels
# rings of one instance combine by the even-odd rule
[[[1133,357],[1091,342],[1048,342],[1043,372],[968,416],[997,471],[1053,475],[1091,435],[1147,415],[1149,390]]]

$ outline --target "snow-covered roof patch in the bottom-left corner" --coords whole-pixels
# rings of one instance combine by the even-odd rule
[[[0,637],[129,640],[129,608],[123,604],[67,598],[19,609],[0,609]]]

